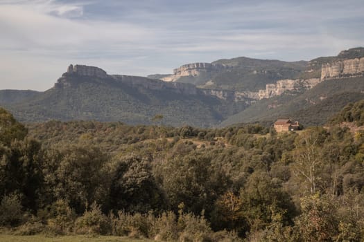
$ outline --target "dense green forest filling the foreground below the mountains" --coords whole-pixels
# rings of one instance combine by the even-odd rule
[[[157,241],[363,241],[363,102],[276,133],[21,124],[0,109],[0,226]],[[349,114],[350,115],[349,115]],[[358,114],[360,113],[360,114]]]

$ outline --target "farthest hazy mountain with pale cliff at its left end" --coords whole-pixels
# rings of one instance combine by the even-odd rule
[[[204,88],[258,91],[266,84],[284,79],[320,78],[322,64],[364,56],[364,48],[343,50],[335,57],[318,57],[309,62],[282,62],[271,59],[237,57],[211,63],[185,64],[171,75],[150,75],[167,82],[184,82]]]

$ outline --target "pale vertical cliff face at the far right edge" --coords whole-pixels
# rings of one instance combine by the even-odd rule
[[[339,77],[352,77],[364,74],[364,57],[345,59],[343,61],[323,64],[321,80],[329,80]]]

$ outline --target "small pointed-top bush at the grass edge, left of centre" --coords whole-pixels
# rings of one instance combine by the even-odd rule
[[[110,221],[96,203],[92,204],[91,210],[77,218],[75,227],[77,234],[109,234],[111,230]]]

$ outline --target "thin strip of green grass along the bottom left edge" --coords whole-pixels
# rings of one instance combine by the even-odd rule
[[[119,236],[45,236],[45,235],[11,235],[0,234],[0,242],[147,242],[147,239],[130,239]]]

